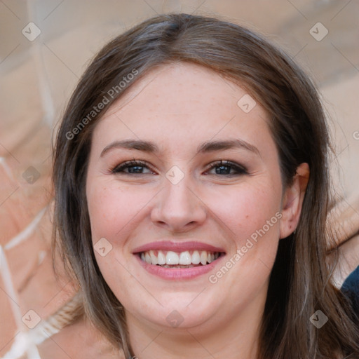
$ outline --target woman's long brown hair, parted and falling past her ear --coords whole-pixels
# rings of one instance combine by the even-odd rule
[[[149,69],[177,61],[193,62],[237,81],[262,104],[271,118],[283,187],[290,184],[300,163],[311,169],[297,230],[280,241],[271,271],[259,358],[358,358],[358,318],[332,285],[332,268],[326,262],[329,138],[316,88],[269,41],[233,23],[199,15],[159,15],[107,43],[81,77],[63,116],[53,169],[54,233],[83,291],[88,317],[123,348],[126,357],[133,355],[123,306],[104,281],[93,254],[86,203],[91,134],[111,103]],[[133,81],[117,88],[113,98],[108,95],[134,71],[138,75]],[[88,117],[104,96],[109,103]],[[81,121],[86,126],[79,128]],[[309,320],[317,310],[329,318],[319,330]]]

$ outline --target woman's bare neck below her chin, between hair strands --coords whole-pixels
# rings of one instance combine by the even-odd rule
[[[266,290],[236,315],[224,309],[196,327],[160,327],[126,313],[133,353],[139,359],[256,359],[265,299]]]

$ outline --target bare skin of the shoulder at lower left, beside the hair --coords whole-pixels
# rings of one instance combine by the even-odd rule
[[[125,359],[86,318],[76,320],[39,345],[41,358]]]

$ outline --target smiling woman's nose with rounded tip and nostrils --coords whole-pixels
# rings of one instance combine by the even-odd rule
[[[172,232],[184,232],[205,222],[205,203],[194,186],[189,188],[186,177],[177,184],[165,179],[165,188],[156,196],[157,202],[151,211],[151,220],[156,226]]]

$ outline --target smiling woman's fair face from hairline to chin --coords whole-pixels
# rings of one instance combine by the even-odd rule
[[[128,320],[205,331],[262,315],[282,184],[269,118],[253,101],[209,69],[163,65],[97,123],[93,244]]]

